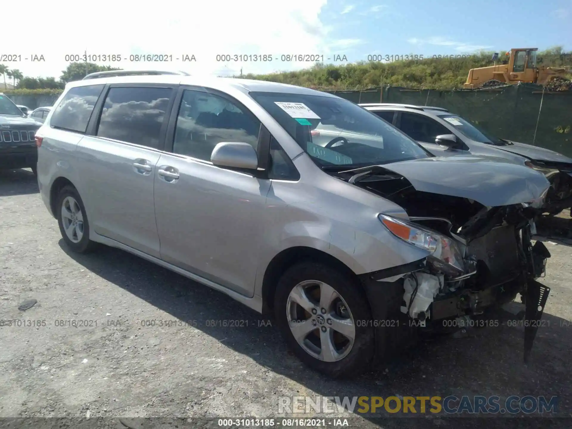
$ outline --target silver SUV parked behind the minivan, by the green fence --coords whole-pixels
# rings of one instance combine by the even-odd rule
[[[557,215],[572,206],[572,158],[553,150],[496,137],[443,108],[407,104],[360,106],[395,125],[436,156],[475,154],[526,164],[545,174],[550,181],[543,212]]]

